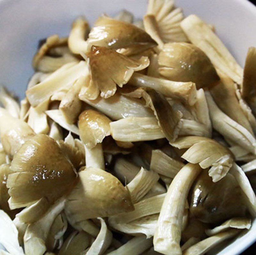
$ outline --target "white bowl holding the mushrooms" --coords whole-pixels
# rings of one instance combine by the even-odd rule
[[[20,98],[33,73],[31,59],[38,40],[52,34],[68,35],[71,22],[79,15],[93,21],[103,12],[114,15],[121,9],[142,18],[145,0],[0,0],[0,83]],[[248,47],[256,46],[256,8],[246,0],[176,0],[184,13],[197,14],[215,26],[217,34],[244,65]],[[218,254],[240,254],[256,241],[256,221],[244,236]]]

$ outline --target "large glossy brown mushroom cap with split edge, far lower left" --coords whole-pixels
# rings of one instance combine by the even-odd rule
[[[52,204],[76,182],[74,167],[48,135],[35,135],[24,143],[13,157],[11,170],[7,187],[17,208],[42,197]]]

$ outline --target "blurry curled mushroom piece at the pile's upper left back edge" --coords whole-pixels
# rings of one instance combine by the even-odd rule
[[[68,38],[59,38],[58,35],[52,35],[46,38],[45,43],[36,52],[32,66],[36,71],[53,72],[61,66],[76,61],[67,48]]]

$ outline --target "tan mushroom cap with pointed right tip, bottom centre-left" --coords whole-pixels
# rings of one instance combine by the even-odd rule
[[[88,167],[79,177],[66,202],[66,212],[76,222],[134,210],[129,190],[114,175]]]

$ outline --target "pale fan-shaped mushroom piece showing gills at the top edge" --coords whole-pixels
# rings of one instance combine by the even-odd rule
[[[161,47],[163,43],[188,41],[180,27],[183,18],[182,10],[175,8],[174,1],[149,0],[143,23],[146,32]]]

